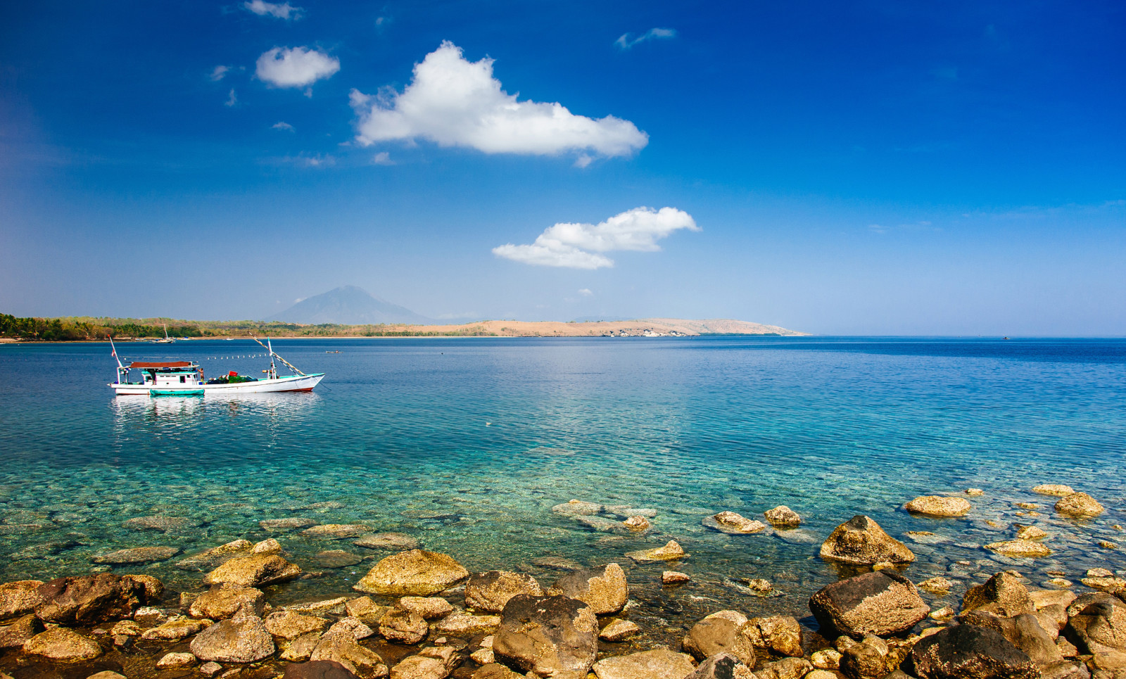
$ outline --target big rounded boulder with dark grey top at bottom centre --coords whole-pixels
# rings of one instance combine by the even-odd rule
[[[493,653],[539,677],[583,679],[598,654],[598,618],[578,599],[517,595],[501,611]]]

